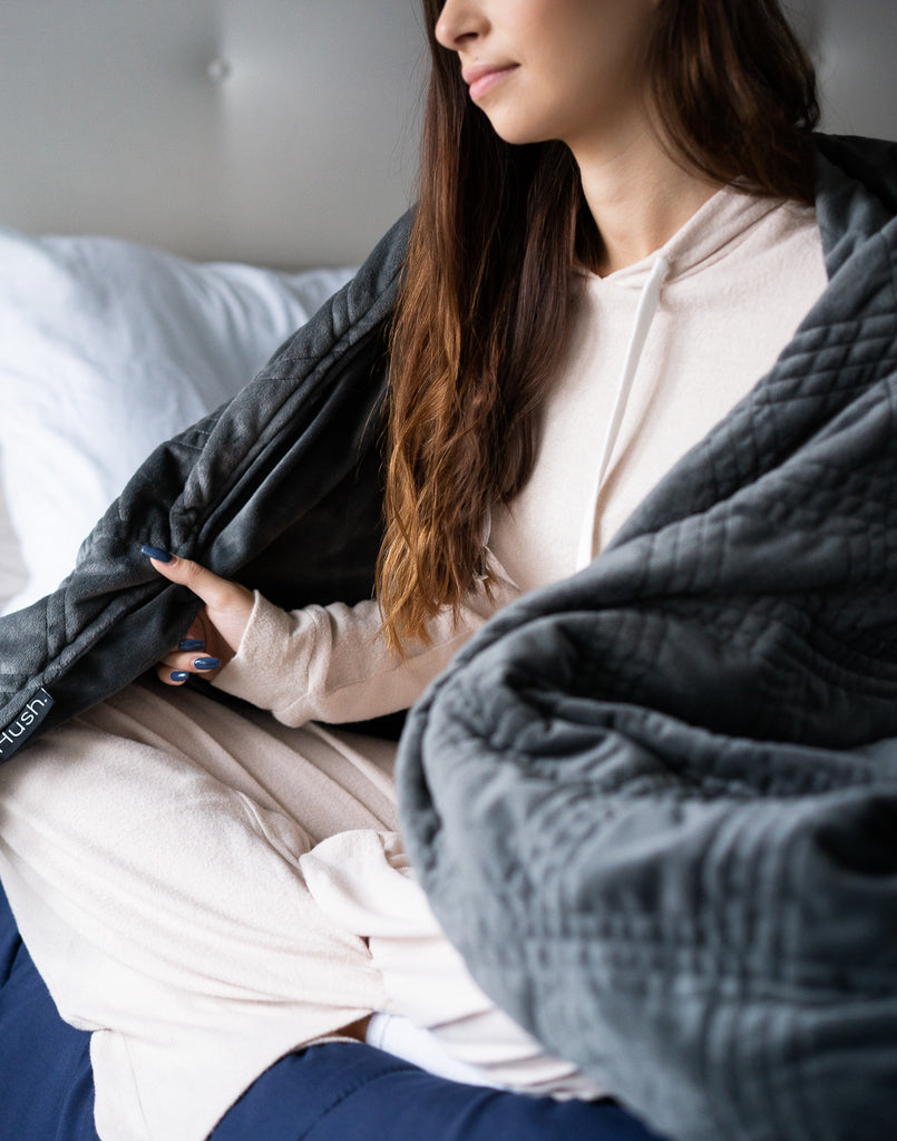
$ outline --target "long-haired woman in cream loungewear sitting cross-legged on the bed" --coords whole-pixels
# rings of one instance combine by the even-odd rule
[[[0,774],[3,882],[63,1015],[95,1031],[104,1141],[199,1139],[333,1036],[616,1092],[467,977],[398,841],[393,746],[310,722],[411,705],[498,609],[590,564],[770,369],[827,285],[813,72],[773,0],[425,10],[377,601],[286,613],[150,547],[204,604],[162,681],[200,674],[292,731],[131,687]]]

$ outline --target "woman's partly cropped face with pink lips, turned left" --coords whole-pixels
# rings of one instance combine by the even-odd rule
[[[643,120],[639,60],[660,2],[445,0],[436,38],[501,138],[575,152]]]

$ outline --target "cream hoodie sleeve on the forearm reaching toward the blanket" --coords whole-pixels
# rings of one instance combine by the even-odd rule
[[[454,653],[518,593],[503,576],[492,598],[478,583],[458,623],[451,609],[441,610],[428,625],[430,644],[406,644],[403,659],[378,637],[380,610],[374,599],[286,612],[257,591],[237,653],[213,685],[270,710],[290,726],[395,713],[413,705]]]

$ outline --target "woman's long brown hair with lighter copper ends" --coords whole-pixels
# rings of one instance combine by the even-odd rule
[[[510,145],[436,40],[418,205],[390,332],[386,532],[377,594],[388,644],[428,640],[482,569],[490,505],[523,486],[568,327],[574,260],[601,238],[560,141]],[[677,161],[759,194],[813,200],[813,65],[777,0],[661,0],[652,106]],[[486,578],[486,589],[490,580]]]

